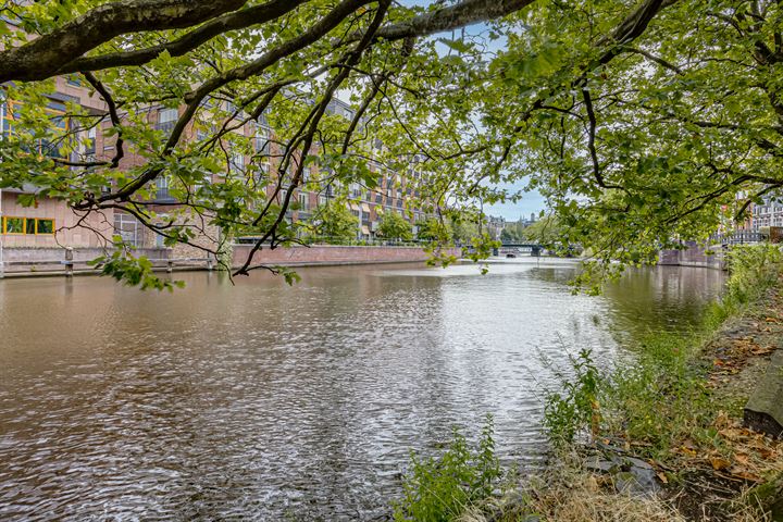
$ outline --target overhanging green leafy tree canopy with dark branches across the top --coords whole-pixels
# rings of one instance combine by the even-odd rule
[[[194,243],[208,222],[226,236],[251,229],[257,249],[287,245],[300,233],[286,220],[297,188],[372,189],[378,173],[414,171],[415,204],[432,213],[514,201],[509,186],[538,190],[561,243],[589,248],[586,274],[600,275],[705,239],[783,186],[783,11],[770,0],[3,10],[20,30],[0,34],[0,82],[13,82],[5,96],[21,103],[0,145],[0,186],[33,184],[80,213],[129,212],[172,243]],[[62,117],[77,123],[53,124],[47,95],[62,74],[107,110],[69,103]],[[338,94],[350,98],[348,117],[327,110]],[[181,108],[173,128],[149,125],[156,104]],[[272,147],[237,130],[261,123]],[[115,141],[113,154],[74,158],[75,129],[89,126]],[[35,140],[70,161],[30,154]],[[121,151],[145,161],[126,164]],[[238,151],[241,167],[231,161]],[[147,204],[163,176],[185,203],[165,220]]]

